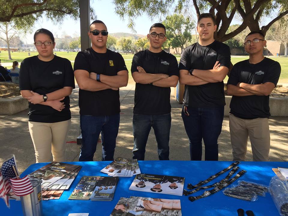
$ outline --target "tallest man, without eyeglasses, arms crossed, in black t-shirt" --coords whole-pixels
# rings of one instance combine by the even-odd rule
[[[185,84],[182,119],[193,161],[201,161],[202,139],[205,161],[218,160],[217,139],[225,106],[223,79],[229,70],[230,49],[214,40],[216,28],[211,13],[201,14],[197,22],[199,42],[182,52],[179,64],[179,82]]]

